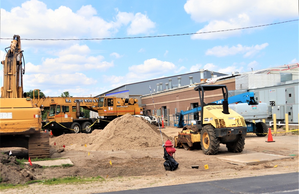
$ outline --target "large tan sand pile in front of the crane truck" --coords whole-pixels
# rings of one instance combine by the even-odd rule
[[[164,133],[162,135],[163,140],[169,139]],[[159,129],[130,114],[112,120],[102,131],[64,134],[51,139],[50,145],[54,146],[54,142],[57,148],[65,145],[66,149],[83,151],[144,149],[162,145]]]

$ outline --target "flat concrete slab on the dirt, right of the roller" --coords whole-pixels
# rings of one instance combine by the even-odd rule
[[[251,154],[240,154],[233,156],[224,156],[219,157],[219,159],[223,162],[228,162],[231,164],[237,165],[256,165],[263,164],[270,161],[281,160],[286,158],[293,158],[292,156],[282,156],[282,155],[274,155],[274,154],[265,154],[265,153],[251,153]]]

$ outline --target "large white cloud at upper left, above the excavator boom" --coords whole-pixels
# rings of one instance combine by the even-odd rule
[[[11,21],[18,25],[11,25]],[[91,5],[83,5],[79,10],[60,6],[57,9],[47,8],[47,4],[38,0],[25,1],[21,7],[11,10],[1,8],[1,37],[10,38],[12,32],[18,32],[23,39],[78,39],[107,38],[114,36],[123,25],[129,25],[128,33],[136,35],[149,33],[155,28],[148,16],[137,13],[120,12],[116,9],[114,21],[105,21],[97,16]],[[49,44],[48,44],[49,42]],[[31,45],[60,45],[71,43],[59,41],[29,41]],[[1,44],[4,43],[1,40]],[[27,45],[29,45],[27,44]]]

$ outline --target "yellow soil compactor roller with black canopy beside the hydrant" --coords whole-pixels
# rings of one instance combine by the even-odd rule
[[[247,127],[244,118],[228,107],[228,89],[226,85],[198,85],[200,107],[196,124],[186,125],[175,136],[175,147],[186,150],[201,148],[207,155],[219,152],[220,143],[226,144],[229,152],[242,152],[245,145]],[[222,90],[223,101],[205,103],[204,94],[218,94]]]

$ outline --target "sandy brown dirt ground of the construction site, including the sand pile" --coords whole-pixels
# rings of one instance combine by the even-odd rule
[[[173,137],[181,129],[165,127],[161,129],[163,141]],[[257,137],[248,133],[245,148],[241,153],[227,151],[220,146],[217,155],[205,155],[202,150],[176,149],[175,160],[179,167],[174,171],[164,169],[163,147],[159,128],[149,125],[140,118],[124,115],[109,123],[103,130],[91,134],[64,134],[50,137],[51,158],[70,159],[74,166],[42,169],[40,166],[26,166],[24,169],[10,161],[10,165],[0,163],[2,183],[24,183],[28,180],[42,180],[69,176],[97,177],[105,181],[81,184],[43,185],[30,184],[21,189],[1,190],[5,193],[101,193],[157,187],[174,184],[194,183],[249,176],[298,172],[298,135],[277,129],[272,137],[275,142],[266,142],[268,136]],[[55,145],[54,145],[55,144]],[[57,153],[65,145],[65,150]],[[1,148],[1,153],[28,158],[28,150],[21,148]],[[263,152],[275,155],[291,155],[293,159],[283,159],[265,164],[240,166],[220,161],[218,158],[229,155]],[[27,155],[27,156],[26,156]],[[22,157],[23,156],[23,157]],[[13,157],[10,157],[13,158]],[[2,161],[5,158],[2,158]],[[109,164],[111,161],[112,165]],[[5,162],[4,162],[5,163]],[[208,169],[204,165],[208,164]],[[192,169],[192,165],[199,165]],[[6,177],[6,178],[5,178]],[[5,179],[5,181],[4,181]],[[8,180],[7,180],[8,179]]]

